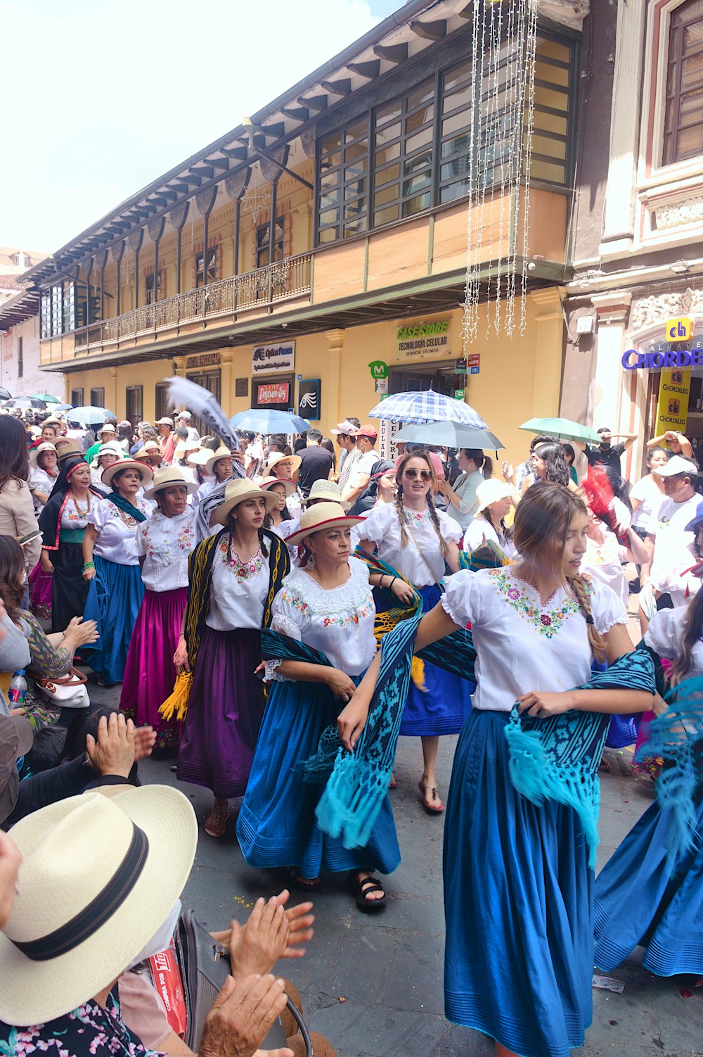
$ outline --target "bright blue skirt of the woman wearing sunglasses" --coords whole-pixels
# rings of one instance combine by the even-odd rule
[[[416,588],[422,595],[423,612],[429,613],[441,598],[435,583]],[[475,683],[453,675],[434,664],[423,662],[424,687],[411,682],[407,701],[400,722],[400,734],[418,735],[458,734],[471,711],[471,694]]]

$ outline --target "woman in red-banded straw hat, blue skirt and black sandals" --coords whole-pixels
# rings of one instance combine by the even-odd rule
[[[376,649],[368,568],[349,557],[352,526],[359,520],[339,503],[319,502],[305,511],[291,537],[303,546],[303,563],[286,576],[273,601],[271,631],[319,650],[328,663],[266,662],[273,683],[236,834],[247,863],[290,867],[299,888],[317,886],[322,870],[348,871],[359,907],[377,910],[385,895],[373,871],[390,873],[400,860],[387,797],[368,845],[348,850],[319,829],[315,810],[324,785],[301,773]]]

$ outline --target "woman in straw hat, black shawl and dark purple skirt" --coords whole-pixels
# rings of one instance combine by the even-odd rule
[[[212,790],[205,823],[225,833],[230,797],[247,786],[264,713],[254,674],[261,631],[290,569],[282,540],[263,527],[278,497],[247,479],[230,481],[212,520],[223,527],[195,548],[188,563],[188,605],[174,654],[176,671],[192,671],[176,775]]]

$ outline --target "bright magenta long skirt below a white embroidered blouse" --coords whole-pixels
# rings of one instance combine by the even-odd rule
[[[145,591],[127,654],[119,707],[137,726],[153,726],[159,748],[178,742],[177,721],[165,720],[158,709],[173,690],[173,654],[187,601],[188,588]]]

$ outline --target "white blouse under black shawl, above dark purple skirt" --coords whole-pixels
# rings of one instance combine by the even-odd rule
[[[268,594],[268,558],[260,549],[249,561],[242,563],[232,551],[232,561],[228,564],[228,540],[229,535],[225,534],[212,562],[210,612],[205,623],[215,631],[261,628]]]

